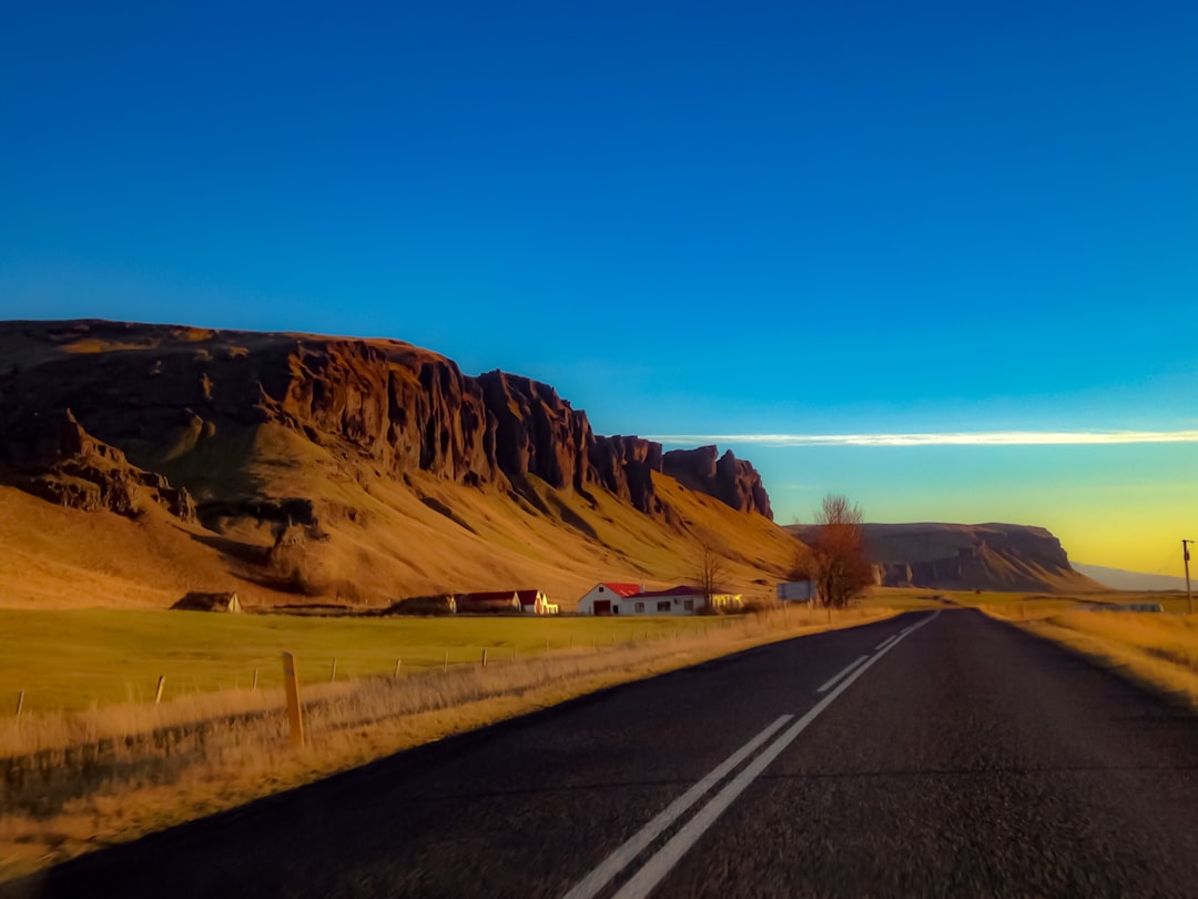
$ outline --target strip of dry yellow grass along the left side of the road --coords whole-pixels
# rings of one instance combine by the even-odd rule
[[[235,807],[371,759],[543,708],[616,683],[660,674],[779,639],[852,627],[887,609],[827,613],[798,609],[745,616],[706,633],[680,630],[640,642],[561,650],[448,672],[363,678],[305,689],[309,744],[288,746],[280,689],[228,690],[175,702],[116,705],[74,714],[38,714],[0,726],[0,754],[66,747],[208,719],[202,738],[184,732],[169,759],[153,741],[115,741],[107,774],[79,783],[61,771],[34,791],[10,783],[0,804],[0,879],[90,849]],[[315,701],[314,701],[315,700]],[[261,716],[238,719],[247,712]],[[99,766],[103,770],[103,766]],[[120,773],[117,773],[117,771]],[[31,801],[32,792],[37,800]]]

